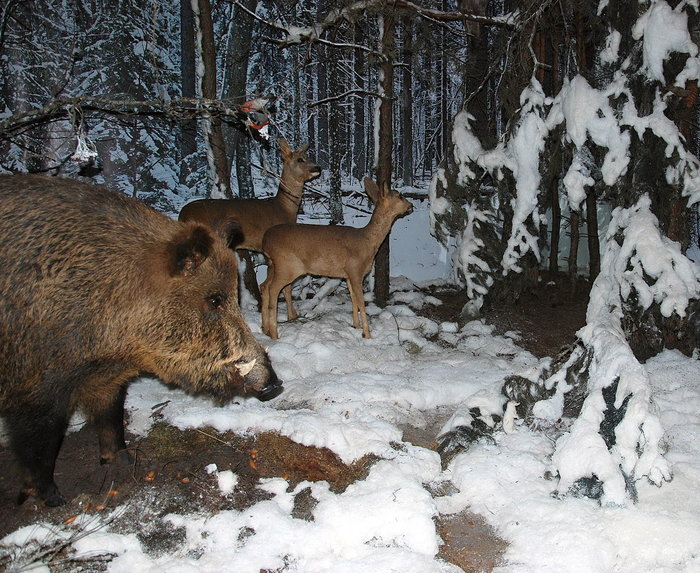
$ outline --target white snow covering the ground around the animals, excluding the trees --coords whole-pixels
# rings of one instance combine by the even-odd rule
[[[433,250],[425,261],[422,251],[413,250],[416,241],[431,240],[421,212],[395,227],[392,274],[411,276],[421,265],[416,280],[424,280],[426,265],[440,257],[437,246],[423,249]],[[435,269],[434,276],[444,273]],[[171,515],[174,526],[186,528],[187,539],[170,555],[148,555],[135,536],[108,525],[75,541],[75,551],[115,554],[109,571],[128,573],[453,572],[455,566],[436,558],[441,540],[434,518],[469,508],[508,541],[502,572],[700,571],[699,360],[666,351],[646,364],[672,482],[661,488],[639,483],[639,502],[627,507],[556,499],[556,480],[544,477],[552,436],[518,420],[515,431],[498,430],[495,443],[474,444],[445,471],[437,453],[403,441],[403,426],[424,426],[435,411],[459,416],[475,405],[500,407],[504,377],[531,373],[538,360],[517,346],[515,335],[495,336],[482,322],[458,329],[416,316],[414,310],[430,299],[409,279],[394,279],[393,288],[388,308],[368,305],[370,340],[352,328],[343,285],[329,296],[299,302],[302,318],[282,320],[277,341],[260,333],[260,316],[248,307],[247,318],[285,381],[284,393],[271,402],[251,399],[218,408],[147,379],[131,386],[127,401],[130,430],[137,434],[148,431],[151,408],[167,396],[163,415],[181,428],[276,431],[328,447],[346,462],[376,454],[382,459],[366,479],[343,493],[331,492],[324,482],[288,492],[284,479],[269,479],[264,488],[274,497],[244,511]],[[442,344],[428,340],[432,335]],[[226,495],[235,475],[221,474]],[[450,491],[438,487],[445,482],[456,486],[454,493],[430,493]],[[292,517],[294,495],[305,487],[318,500],[313,521]],[[2,545],[19,548],[31,539],[68,534],[38,524],[10,534]]]

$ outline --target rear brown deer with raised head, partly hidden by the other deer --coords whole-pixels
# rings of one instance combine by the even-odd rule
[[[181,210],[180,221],[197,221],[209,227],[218,229],[225,227],[231,219],[235,219],[243,234],[243,242],[236,249],[262,251],[262,238],[270,227],[283,223],[294,223],[297,220],[304,184],[321,173],[321,168],[306,155],[309,144],[305,143],[293,151],[283,137],[278,140],[282,152],[282,176],[277,195],[267,199],[198,199],[187,203]],[[250,263],[250,259],[246,258]],[[246,265],[251,269],[250,264]],[[252,272],[252,271],[251,271]],[[246,285],[254,294],[257,290],[255,276],[250,275]],[[292,306],[292,290],[284,290],[287,300],[287,312],[296,318]]]

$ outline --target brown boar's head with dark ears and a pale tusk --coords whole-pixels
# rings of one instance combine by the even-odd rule
[[[164,382],[219,402],[235,396],[274,398],[282,383],[238,305],[236,257],[221,236],[195,223],[150,253],[148,313],[139,354]]]

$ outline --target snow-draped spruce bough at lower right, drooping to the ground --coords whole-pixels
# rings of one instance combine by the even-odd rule
[[[661,485],[671,478],[660,451],[663,428],[649,376],[626,340],[623,306],[635,299],[644,309],[656,304],[663,316],[682,317],[698,298],[700,271],[677,243],[662,235],[649,197],[644,195],[630,209],[616,209],[591,290],[587,324],[578,333],[592,358],[587,396],[570,431],[557,441],[552,459],[560,492],[595,476],[603,502],[623,503],[626,490],[634,497],[636,481],[646,477]],[[605,428],[610,420],[616,423]]]

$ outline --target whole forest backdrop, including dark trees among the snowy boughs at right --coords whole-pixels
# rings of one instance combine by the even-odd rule
[[[505,288],[465,261],[455,261],[456,278],[470,292],[513,299],[537,280],[537,272],[509,273],[514,266],[594,278],[599,211],[605,217],[643,189],[652,190],[672,239],[683,249],[697,242],[697,197],[686,182],[697,172],[697,88],[686,71],[697,51],[697,14],[671,4],[648,3],[656,9],[647,19],[685,22],[687,37],[669,35],[659,63],[647,61],[652,42],[631,25],[645,3],[72,1],[39,9],[6,0],[0,160],[7,171],[107,182],[175,214],[190,197],[255,196],[253,180],[279,172],[274,140],[284,136],[309,141],[325,168],[321,200],[332,223],[343,222],[344,185],[372,174],[425,187],[442,166],[445,183],[434,191],[455,208],[437,213],[435,234],[454,246],[470,220],[493,218],[495,226],[477,230],[487,245],[477,266],[493,267],[504,255],[512,262],[503,269]],[[619,92],[598,110],[601,125],[631,137],[619,177],[610,175],[604,138],[586,135],[585,125],[577,135],[567,122],[546,126],[537,213],[528,220],[512,208],[513,169],[496,174],[467,160],[475,169],[464,177],[471,171],[459,164],[465,130],[482,151],[508,149],[528,105],[544,120],[561,107],[557,96],[583,82],[589,95],[604,93],[621,75],[634,102]],[[676,76],[687,81],[671,81]],[[533,93],[540,103],[528,103]],[[658,112],[673,123],[675,152],[660,132],[642,133],[639,121],[625,119],[630,104],[639,118]],[[256,129],[267,120],[270,140]],[[669,168],[675,179],[665,175]],[[580,183],[586,178],[593,182]],[[541,248],[514,250],[523,240]]]

